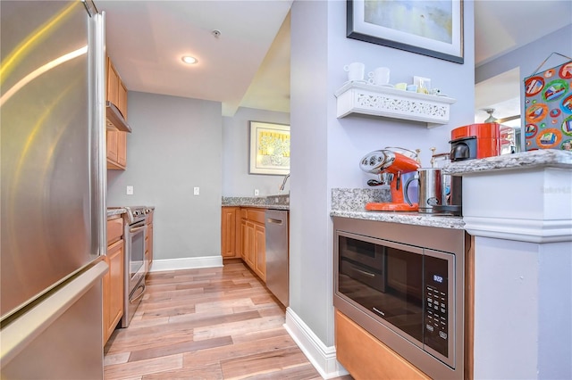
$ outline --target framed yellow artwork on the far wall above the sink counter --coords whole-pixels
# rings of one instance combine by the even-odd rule
[[[250,121],[249,173],[290,173],[290,126]]]

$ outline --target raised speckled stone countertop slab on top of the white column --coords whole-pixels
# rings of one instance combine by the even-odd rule
[[[572,169],[572,152],[555,149],[503,154],[478,160],[451,162],[442,170],[444,174],[462,175],[483,171],[534,169],[534,168]]]

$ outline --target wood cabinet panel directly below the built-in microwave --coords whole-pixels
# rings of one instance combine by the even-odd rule
[[[336,356],[356,379],[429,379],[374,335],[335,311]]]

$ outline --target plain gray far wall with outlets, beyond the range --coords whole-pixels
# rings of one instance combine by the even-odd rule
[[[108,206],[156,206],[157,260],[220,256],[221,103],[132,91],[128,102],[127,170],[107,170]]]

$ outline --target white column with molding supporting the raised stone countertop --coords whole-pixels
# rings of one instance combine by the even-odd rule
[[[475,235],[475,379],[572,378],[572,169],[462,176]]]

